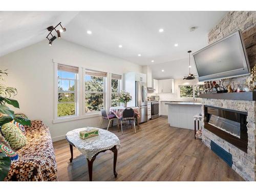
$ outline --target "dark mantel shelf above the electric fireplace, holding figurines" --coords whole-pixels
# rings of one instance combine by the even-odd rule
[[[200,98],[255,101],[256,91],[241,93],[204,93],[200,94]]]

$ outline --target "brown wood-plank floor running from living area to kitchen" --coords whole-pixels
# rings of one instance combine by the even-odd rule
[[[170,127],[167,118],[160,117],[140,125],[134,133],[117,127],[121,142],[117,158],[117,178],[113,174],[113,153],[107,151],[96,157],[93,181],[243,181],[201,140],[194,131]],[[59,181],[89,181],[86,158],[74,148],[73,163],[69,162],[70,148],[66,140],[53,143]]]

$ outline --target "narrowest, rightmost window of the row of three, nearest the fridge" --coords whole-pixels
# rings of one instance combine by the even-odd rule
[[[112,74],[111,77],[111,106],[118,106],[118,94],[120,93],[120,81],[122,76]]]

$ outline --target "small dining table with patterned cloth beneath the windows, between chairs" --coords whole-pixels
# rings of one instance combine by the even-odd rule
[[[140,109],[138,106],[131,106],[130,108],[132,108],[134,110],[136,124],[137,124],[138,129],[140,129],[140,125],[139,125],[139,121],[138,121],[138,119],[140,118]],[[110,108],[110,113],[115,114],[116,117],[118,118],[118,123],[117,123],[118,131],[119,131],[119,127],[120,127],[119,126],[120,118],[122,117],[124,109],[125,109],[125,106],[112,106]]]

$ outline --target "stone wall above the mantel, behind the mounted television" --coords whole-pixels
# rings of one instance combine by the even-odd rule
[[[250,67],[256,65],[256,11],[229,11],[208,33],[208,43],[221,39],[230,33],[241,30]],[[224,86],[234,82],[235,88],[245,86],[248,76],[226,79]]]

